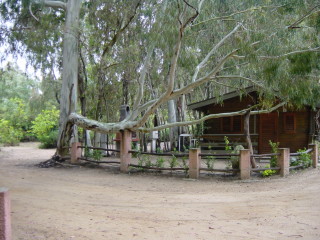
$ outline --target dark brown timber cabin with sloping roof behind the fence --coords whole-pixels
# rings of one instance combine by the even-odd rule
[[[203,116],[216,113],[235,112],[259,103],[253,87],[246,88],[242,97],[238,92],[222,96],[222,104],[210,98],[188,105],[190,110],[199,111]],[[315,115],[311,107],[299,110],[281,107],[269,114],[252,115],[249,120],[250,137],[255,153],[270,153],[269,140],[279,142],[280,148],[290,148],[291,152],[307,147],[315,137]],[[247,147],[244,136],[244,116],[209,119],[204,122],[204,132],[200,137],[202,147],[224,150],[224,136],[232,145]]]

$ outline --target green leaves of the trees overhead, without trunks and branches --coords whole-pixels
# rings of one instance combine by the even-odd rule
[[[163,82],[171,66],[170,59],[175,53],[173,47],[179,32],[178,19],[187,19],[194,10],[185,1],[139,2],[136,11],[137,1],[83,1],[79,25],[79,51],[82,53],[83,66],[79,69],[85,69],[86,73],[79,75],[86,75],[85,94],[82,93],[82,96],[86,97],[86,114],[89,118],[118,121],[119,105],[132,105],[139,88],[134,86],[134,82],[139,78],[146,49],[150,45],[155,50],[146,80],[150,91],[145,91],[144,102],[160,96],[167,87]],[[60,86],[59,79],[48,75],[52,75],[53,69],[61,68],[66,11],[47,8],[42,1],[34,1],[31,5],[29,3],[30,0],[1,1],[0,22],[3,34],[0,34],[0,43],[8,44],[9,52],[25,54],[33,66],[38,66],[37,69],[47,75],[41,84],[46,89],[41,89],[45,97],[33,98],[39,100],[49,95],[55,96],[55,90]],[[189,4],[197,8],[197,1],[190,1]],[[257,82],[262,86],[259,87],[261,96],[275,100],[277,95],[280,99],[291,100],[302,106],[315,106],[320,99],[319,54],[285,55],[319,46],[319,14],[310,14],[302,22],[302,28],[288,30],[286,27],[315,4],[315,1],[302,0],[203,1],[199,16],[194,19],[191,27],[186,28],[184,34],[175,87],[191,83],[190,76],[193,76],[195,67],[213,46],[241,23],[239,31],[218,47],[199,69],[198,78],[211,72],[223,56],[239,49],[236,53],[239,57],[230,58],[221,66],[219,75],[239,75],[253,81],[221,79],[217,84],[213,79],[194,89],[192,94],[187,94],[190,98],[188,101],[203,100],[214,94],[220,95],[226,89],[244,88]],[[39,21],[31,16],[29,6]],[[123,26],[128,27],[121,29]],[[32,89],[24,87],[21,93],[14,95],[14,82],[6,81],[3,84],[8,88],[0,87],[7,99],[14,96],[24,99],[30,92],[38,92],[34,91],[36,86],[32,86]],[[50,88],[53,85],[54,91]],[[29,98],[28,95],[26,99]],[[164,112],[164,109],[160,109],[159,115],[164,116]],[[14,125],[11,120],[10,123]],[[203,128],[202,124],[196,126],[194,135],[201,135]]]

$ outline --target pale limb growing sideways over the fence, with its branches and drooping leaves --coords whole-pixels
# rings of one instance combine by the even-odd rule
[[[204,1],[198,1],[198,4],[195,4],[195,2],[192,1],[193,5],[191,1],[190,3],[186,1],[162,3],[170,6],[171,10],[176,10],[176,15],[170,11],[167,14],[177,16],[179,26],[176,29],[176,35],[168,40],[175,42],[175,46],[168,54],[171,61],[170,64],[167,64],[169,67],[164,85],[166,89],[157,99],[143,103],[142,96],[144,91],[141,88],[136,102],[133,104],[133,111],[122,122],[98,123],[82,118],[76,113],[70,115],[69,122],[102,132],[116,132],[125,129],[151,131],[199,122],[199,120],[179,122],[152,129],[144,127],[148,117],[159,106],[169,100],[176,99],[182,94],[188,94],[207,82],[211,82],[215,86],[226,85],[227,87],[236,88],[253,84],[266,96],[272,91],[276,92],[277,97],[282,98],[284,101],[294,100],[299,103],[298,100],[300,99],[300,103],[314,105],[314,101],[317,98],[316,93],[319,91],[318,79],[308,79],[310,80],[310,82],[307,81],[308,84],[312,85],[307,87],[305,78],[302,79],[301,76],[295,77],[292,75],[296,73],[293,69],[297,64],[295,64],[295,60],[291,59],[299,59],[299,56],[304,54],[317,58],[316,52],[319,51],[318,41],[316,39],[312,41],[304,40],[305,36],[312,36],[312,30],[306,30],[305,34],[302,35],[288,31],[284,24],[284,19],[287,18],[287,21],[290,21],[290,15],[294,12],[293,5],[285,1],[277,1],[271,5],[262,6],[261,4],[264,1],[248,1],[238,4],[238,6],[236,6],[236,3],[230,4],[231,8],[228,5],[229,3],[222,4],[223,2],[220,1],[211,1],[207,5]],[[202,9],[206,9],[204,6],[208,7],[207,9],[213,9],[218,2],[221,3],[220,10],[226,11],[227,15],[221,16],[220,14],[219,16],[217,12],[214,12],[215,16],[203,15],[202,18],[198,16]],[[200,8],[202,4],[203,6]],[[234,12],[232,13],[230,10]],[[267,13],[270,16],[266,17]],[[216,22],[219,24],[213,24]],[[215,32],[210,34],[209,30],[213,28]],[[193,31],[196,31],[197,36],[193,39],[195,42],[191,50],[194,54],[198,54],[199,57],[192,64],[194,71],[193,74],[189,75],[190,78],[187,84],[184,87],[175,89],[179,60],[183,53],[187,54],[188,50],[190,50],[190,48],[187,48],[186,42],[188,37],[194,36],[192,35],[194,34]],[[190,35],[188,36],[188,34]],[[208,37],[213,39],[208,39]],[[204,45],[206,46],[204,47]],[[211,49],[208,47],[210,45]],[[187,47],[183,49],[185,46]],[[205,49],[207,51],[204,51]],[[148,62],[150,60],[146,56],[144,69],[140,75],[140,86],[145,84],[145,75],[147,69],[150,68]],[[290,88],[288,87],[288,82],[292,83]],[[228,83],[233,84],[233,86],[228,86]],[[306,94],[301,87],[307,87],[312,96]],[[296,99],[297,94],[299,94],[299,99]],[[272,96],[274,97],[275,95],[273,94]],[[258,112],[252,112],[252,114]],[[231,115],[244,113],[245,111],[241,111],[231,113]],[[230,115],[230,113],[227,115]],[[207,116],[205,119],[221,116],[226,116],[226,114]]]

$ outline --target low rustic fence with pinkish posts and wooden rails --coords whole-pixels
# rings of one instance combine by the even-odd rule
[[[279,174],[284,177],[289,174],[289,170],[301,166],[290,167],[290,156],[299,156],[303,153],[291,153],[288,148],[280,148],[279,153],[272,154],[254,154],[251,155],[248,149],[240,150],[240,154],[205,154],[201,153],[198,148],[190,149],[189,153],[149,153],[149,152],[139,152],[131,149],[131,133],[124,131],[121,134],[120,150],[115,149],[104,149],[104,148],[93,148],[96,150],[113,151],[120,153],[120,161],[95,161],[92,159],[87,159],[81,156],[82,149],[85,148],[81,146],[81,143],[73,143],[71,147],[71,163],[76,163],[79,160],[85,160],[93,163],[113,163],[120,165],[120,171],[127,173],[130,167],[137,167],[143,169],[153,169],[153,170],[183,170],[188,171],[189,177],[197,179],[199,178],[200,171],[210,171],[210,172],[226,172],[226,173],[240,173],[240,179],[249,179],[252,172],[261,172],[264,170],[276,170]],[[305,153],[310,153],[312,158],[312,166],[317,167],[318,163],[318,147],[315,144],[309,145],[309,149]],[[132,154],[148,154],[156,156],[175,156],[175,157],[188,157],[189,162],[187,166],[184,167],[156,167],[156,166],[141,166],[137,164],[132,164]],[[239,157],[239,169],[214,169],[214,168],[202,168],[201,167],[201,157]],[[272,157],[277,156],[277,167],[270,168],[251,168],[250,158],[261,158],[261,157]]]

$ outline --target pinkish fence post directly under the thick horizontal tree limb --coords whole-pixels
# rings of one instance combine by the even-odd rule
[[[127,173],[129,164],[131,162],[131,135],[132,133],[128,130],[120,132],[120,171]]]

